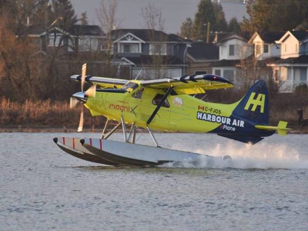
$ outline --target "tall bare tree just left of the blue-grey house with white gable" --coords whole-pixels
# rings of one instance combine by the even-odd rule
[[[103,59],[106,63],[106,73],[114,74],[114,68],[111,66],[111,59],[113,55],[112,48],[112,30],[117,29],[121,20],[117,16],[118,0],[101,0],[100,8],[96,9],[97,19],[103,31],[106,33],[106,40],[102,41]]]

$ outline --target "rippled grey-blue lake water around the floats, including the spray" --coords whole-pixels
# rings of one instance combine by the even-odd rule
[[[56,147],[59,136],[100,134],[0,133],[0,230],[308,230],[308,135],[249,146],[159,133],[163,147],[233,162],[157,168],[86,162]]]

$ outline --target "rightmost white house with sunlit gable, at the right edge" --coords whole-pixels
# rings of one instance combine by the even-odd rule
[[[308,80],[308,31],[287,31],[276,41],[281,46],[280,60],[267,63],[281,93],[294,92]]]

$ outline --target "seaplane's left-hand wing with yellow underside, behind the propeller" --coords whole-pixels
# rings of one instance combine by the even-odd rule
[[[71,76],[71,80],[81,82],[81,75],[75,74]],[[105,77],[96,77],[92,75],[86,76],[86,82],[100,85],[103,88],[121,88],[128,80],[112,79]]]

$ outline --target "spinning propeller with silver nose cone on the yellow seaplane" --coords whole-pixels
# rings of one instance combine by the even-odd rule
[[[81,92],[73,94],[73,97],[70,98],[70,108],[75,107],[79,102],[86,103],[88,97],[95,97],[96,92],[96,84],[92,85],[88,88],[88,90],[84,91],[84,85],[86,82],[86,70],[87,70],[87,64],[85,63],[82,65],[81,70]],[[79,126],[77,132],[81,132],[83,129],[83,123],[84,123],[84,107],[81,107],[80,112],[80,120],[79,120]]]

